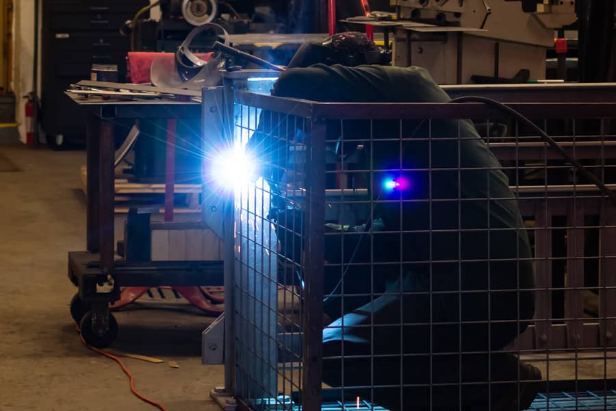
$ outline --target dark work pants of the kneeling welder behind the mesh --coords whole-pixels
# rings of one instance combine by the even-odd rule
[[[450,305],[391,293],[337,319],[323,333],[324,383],[389,410],[488,410],[518,377],[517,358],[488,342],[502,348],[522,323],[452,323]]]

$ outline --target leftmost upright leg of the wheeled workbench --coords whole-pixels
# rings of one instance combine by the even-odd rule
[[[99,140],[101,119],[88,113],[86,129],[86,249],[99,252]]]

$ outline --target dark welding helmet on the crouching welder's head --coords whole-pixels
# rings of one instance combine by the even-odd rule
[[[344,32],[334,34],[319,43],[302,45],[287,68],[307,67],[322,63],[331,66],[359,66],[361,64],[389,64],[392,57],[379,49],[365,34]]]

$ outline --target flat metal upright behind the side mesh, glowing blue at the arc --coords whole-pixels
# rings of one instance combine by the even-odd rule
[[[238,107],[242,147],[251,127],[250,110]],[[253,113],[253,117],[256,115]],[[253,120],[252,123],[255,123]],[[254,129],[254,128],[253,128]],[[267,219],[272,201],[263,179],[245,184],[235,195],[235,330],[236,361],[246,370],[237,388],[244,397],[262,401],[277,397],[277,246],[276,233]],[[273,366],[272,366],[273,365]],[[251,376],[251,377],[248,377]]]

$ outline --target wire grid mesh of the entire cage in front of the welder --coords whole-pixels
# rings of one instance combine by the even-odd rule
[[[615,208],[535,129],[477,104],[235,99],[261,177],[235,201],[246,405],[611,409]],[[516,108],[616,183],[613,106]]]

